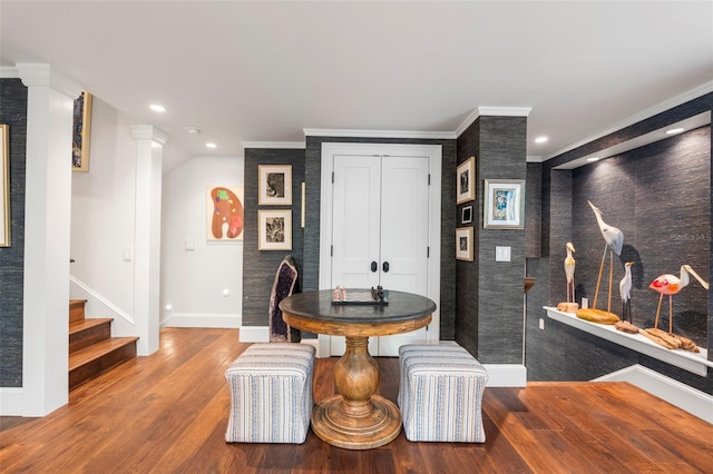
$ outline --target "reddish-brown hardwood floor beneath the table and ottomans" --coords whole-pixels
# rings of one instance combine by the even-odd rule
[[[32,473],[629,473],[713,472],[713,425],[624,383],[486,388],[485,444],[411,443],[370,451],[227,444],[224,372],[237,329],[162,330],[160,350],[80,386],[49,416],[0,432],[0,472]],[[397,358],[377,358],[382,396],[398,395]],[[318,359],[315,399],[334,393],[336,358]]]

